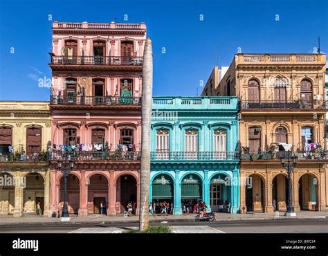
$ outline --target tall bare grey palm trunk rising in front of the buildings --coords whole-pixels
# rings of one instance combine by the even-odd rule
[[[143,98],[140,168],[139,230],[149,227],[149,176],[150,176],[150,126],[152,122],[153,53],[152,40],[147,38],[143,54]]]

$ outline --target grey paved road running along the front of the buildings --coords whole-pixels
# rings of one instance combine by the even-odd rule
[[[158,225],[159,223],[156,223]],[[165,223],[169,226],[210,226],[220,232],[226,233],[328,233],[328,219],[282,219],[264,221],[214,221],[214,222],[192,222],[174,221]],[[41,226],[0,226],[1,233],[66,233],[79,228],[108,228],[108,227],[132,227],[137,223],[111,223],[111,224],[89,224],[78,225],[65,223],[47,224]]]

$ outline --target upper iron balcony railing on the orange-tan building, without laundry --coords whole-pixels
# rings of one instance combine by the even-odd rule
[[[242,109],[327,109],[325,100],[242,101]]]

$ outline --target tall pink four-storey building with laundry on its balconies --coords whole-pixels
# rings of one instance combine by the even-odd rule
[[[57,159],[75,159],[69,212],[116,215],[139,208],[145,24],[53,22],[51,212],[64,200]]]

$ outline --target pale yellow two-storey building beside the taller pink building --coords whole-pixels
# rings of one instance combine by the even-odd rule
[[[0,214],[49,216],[48,102],[0,102]]]

